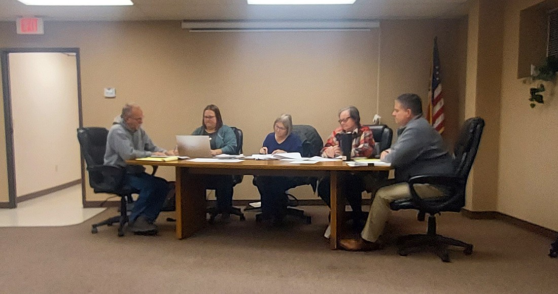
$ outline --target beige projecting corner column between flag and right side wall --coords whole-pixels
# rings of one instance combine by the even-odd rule
[[[479,116],[486,123],[468,182],[466,208],[474,211],[494,211],[498,199],[502,5],[501,0],[472,1],[469,10],[465,117]]]

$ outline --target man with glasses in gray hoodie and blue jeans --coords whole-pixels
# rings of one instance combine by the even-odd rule
[[[157,234],[154,222],[169,192],[169,185],[164,179],[146,173],[143,166],[127,165],[126,160],[152,155],[175,155],[175,151],[166,151],[153,144],[141,128],[143,112],[138,105],[126,104],[121,117],[122,121],[114,123],[108,132],[104,165],[126,168],[124,185],[140,191],[140,197],[129,216],[128,229],[134,234],[154,235]]]

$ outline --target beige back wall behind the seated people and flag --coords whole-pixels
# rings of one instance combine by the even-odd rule
[[[45,36],[17,36],[0,23],[0,47],[79,47],[84,126],[109,127],[126,102],[142,105],[144,127],[161,147],[201,123],[206,104],[217,104],[230,126],[244,131],[244,153],[257,152],[273,119],[291,113],[325,139],[337,110],[376,113],[378,35],[372,32],[189,33],[179,22],[47,22]],[[451,141],[463,118],[464,20],[384,21],[379,58],[379,114],[395,128],[393,99],[405,92],[426,98],[434,36],[439,37]],[[117,89],[104,99],[105,87]],[[174,179],[174,170],[158,175]],[[305,187],[297,196],[315,197]],[[104,200],[88,191],[88,200]],[[236,199],[257,199],[251,177]],[[6,197],[7,199],[7,197]],[[2,200],[2,199],[0,199]]]

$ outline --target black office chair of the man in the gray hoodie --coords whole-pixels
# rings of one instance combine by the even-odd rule
[[[104,153],[107,146],[108,130],[105,128],[78,128],[78,141],[81,155],[85,158],[89,173],[89,185],[95,193],[108,193],[120,197],[120,215],[93,224],[91,233],[98,232],[97,227],[112,226],[119,223],[118,237],[124,235],[124,225],[128,222],[127,204],[133,203],[132,193],[137,193],[129,186],[123,186],[122,180],[126,170],[114,166],[104,166]]]

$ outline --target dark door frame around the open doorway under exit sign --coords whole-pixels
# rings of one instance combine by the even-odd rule
[[[4,128],[6,131],[6,162],[8,171],[8,208],[17,207],[16,191],[16,166],[13,146],[13,121],[12,121],[12,95],[9,81],[9,59],[10,53],[73,53],[75,54],[76,70],[78,74],[78,116],[79,127],[83,127],[83,115],[81,113],[81,74],[79,62],[79,48],[2,48],[0,49],[0,63],[2,65],[2,92],[4,96]],[[80,156],[81,157],[81,156]],[[84,179],[84,162],[81,161],[81,181]],[[81,185],[83,190],[83,185]],[[81,202],[85,203],[85,193],[82,191]]]

